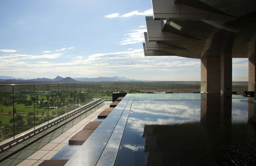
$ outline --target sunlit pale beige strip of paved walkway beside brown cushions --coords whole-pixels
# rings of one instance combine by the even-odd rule
[[[88,117],[78,122],[76,125],[71,127],[66,132],[62,133],[59,137],[52,140],[50,143],[39,149],[36,153],[30,155],[28,158],[20,162],[17,166],[37,166],[44,160],[51,159],[55,154],[57,154],[63,147],[68,144],[68,140],[75,135],[77,132],[82,130],[86,124],[97,119],[98,114],[101,111],[109,107],[112,102],[104,102],[104,106],[97,109]]]

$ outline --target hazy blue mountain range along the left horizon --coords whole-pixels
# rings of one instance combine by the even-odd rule
[[[28,84],[28,83],[53,83],[53,82],[92,82],[92,81],[99,81],[99,82],[121,82],[121,81],[127,81],[127,82],[132,82],[132,81],[142,81],[142,80],[134,80],[134,79],[129,79],[126,77],[97,77],[97,78],[71,78],[71,77],[60,77],[57,76],[55,79],[48,79],[48,78],[37,78],[37,79],[21,79],[21,78],[14,78],[11,76],[0,76],[0,82],[1,84]]]

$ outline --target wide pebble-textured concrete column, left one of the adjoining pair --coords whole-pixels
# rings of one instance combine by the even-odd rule
[[[220,57],[201,59],[201,92],[220,93]]]

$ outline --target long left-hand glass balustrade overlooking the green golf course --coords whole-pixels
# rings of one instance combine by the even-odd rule
[[[100,99],[100,88],[99,82],[1,85],[0,144]]]

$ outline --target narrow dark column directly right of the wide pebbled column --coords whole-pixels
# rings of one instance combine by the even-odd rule
[[[221,93],[232,94],[232,52],[220,54]]]

